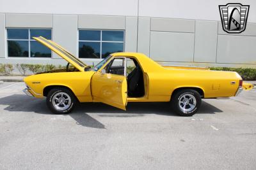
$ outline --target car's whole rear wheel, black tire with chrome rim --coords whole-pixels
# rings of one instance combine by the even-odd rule
[[[173,94],[171,99],[172,109],[182,117],[195,115],[201,103],[200,94],[192,89],[179,90]]]

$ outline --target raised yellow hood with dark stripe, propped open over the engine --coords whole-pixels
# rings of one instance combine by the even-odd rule
[[[53,52],[57,53],[62,57],[63,59],[67,60],[70,64],[72,64],[76,69],[79,71],[84,71],[84,67],[86,67],[86,64],[84,64],[81,60],[77,59],[74,55],[72,55],[70,52],[65,50],[65,48],[61,47],[60,45],[54,43],[53,41],[49,39],[45,39],[44,37],[33,37],[36,41],[42,43],[43,45],[50,48]]]

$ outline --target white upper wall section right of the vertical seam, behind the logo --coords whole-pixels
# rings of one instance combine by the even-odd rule
[[[220,20],[219,5],[241,3],[250,5],[248,22],[256,23],[255,0],[140,0],[140,17]]]

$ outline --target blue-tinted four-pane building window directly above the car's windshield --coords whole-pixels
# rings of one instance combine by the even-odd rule
[[[79,30],[79,58],[104,59],[124,51],[124,31]]]

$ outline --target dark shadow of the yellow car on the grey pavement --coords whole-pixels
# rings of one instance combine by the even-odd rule
[[[35,112],[38,114],[52,114],[48,110],[45,99],[36,99],[23,94],[13,94],[0,98],[0,104],[6,105],[7,111]],[[104,125],[87,113],[97,114],[99,117],[143,117],[145,114],[156,114],[179,117],[170,108],[170,103],[128,103],[127,110],[123,111],[103,103],[80,103],[68,114],[76,120],[78,125],[104,129]],[[223,112],[211,104],[202,101],[199,114],[214,114]]]

